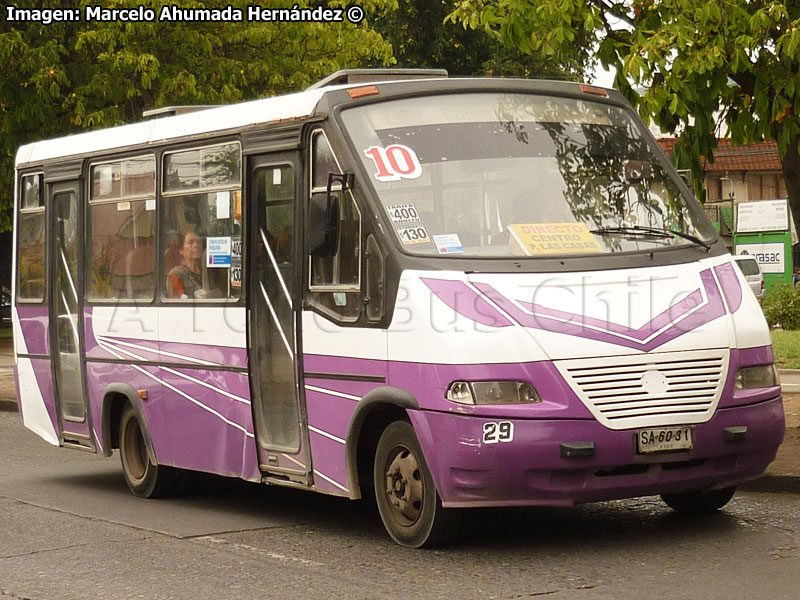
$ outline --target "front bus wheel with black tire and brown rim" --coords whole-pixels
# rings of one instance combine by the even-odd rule
[[[442,508],[410,423],[395,421],[384,430],[375,451],[373,474],[378,512],[395,542],[422,548],[454,537],[460,514]]]

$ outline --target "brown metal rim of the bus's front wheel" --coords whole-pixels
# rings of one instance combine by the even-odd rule
[[[412,526],[419,520],[425,498],[419,461],[409,448],[397,446],[386,465],[384,492],[389,516],[400,525]]]

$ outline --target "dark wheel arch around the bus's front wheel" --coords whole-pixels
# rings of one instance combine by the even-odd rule
[[[391,386],[370,390],[358,403],[345,440],[347,488],[352,500],[362,497],[364,483],[372,487],[373,460],[381,434],[395,421],[409,421],[408,410],[419,410],[417,399]]]

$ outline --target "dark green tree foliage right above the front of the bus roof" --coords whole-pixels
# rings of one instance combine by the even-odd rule
[[[577,79],[588,54],[573,49],[543,58],[503,46],[498,40],[445,21],[457,0],[399,0],[371,21],[392,44],[397,66],[443,68],[450,75]]]

